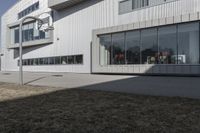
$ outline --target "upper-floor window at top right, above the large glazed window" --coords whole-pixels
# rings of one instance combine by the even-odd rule
[[[143,7],[155,6],[172,1],[175,0],[121,0],[119,2],[119,14],[124,14]]]

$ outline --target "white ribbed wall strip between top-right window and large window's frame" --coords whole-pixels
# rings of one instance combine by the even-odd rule
[[[179,16],[200,11],[199,0],[176,0],[138,9],[119,16],[119,24]]]

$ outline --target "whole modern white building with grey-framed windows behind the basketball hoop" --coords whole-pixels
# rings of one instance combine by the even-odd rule
[[[26,21],[24,71],[200,75],[199,0],[20,0],[2,17],[2,70],[18,71],[19,22],[43,12],[54,30]]]

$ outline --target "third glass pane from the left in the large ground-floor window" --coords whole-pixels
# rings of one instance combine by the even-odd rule
[[[126,32],[126,63],[140,64],[140,31]]]

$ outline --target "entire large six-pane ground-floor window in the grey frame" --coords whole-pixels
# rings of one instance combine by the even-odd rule
[[[199,64],[199,22],[99,35],[100,65]]]

